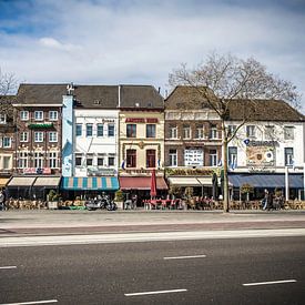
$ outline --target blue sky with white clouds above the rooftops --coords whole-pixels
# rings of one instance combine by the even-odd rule
[[[305,0],[0,0],[0,68],[20,82],[152,84],[211,52],[255,58],[305,109]]]

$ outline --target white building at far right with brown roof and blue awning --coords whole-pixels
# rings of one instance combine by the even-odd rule
[[[242,123],[237,111],[241,103],[246,101],[234,101],[231,105],[226,125],[232,131]],[[288,171],[289,197],[303,197],[304,115],[283,101],[257,100],[256,110],[256,120],[243,125],[228,144],[234,196],[240,196],[245,183],[254,187],[253,197],[262,197],[265,189],[284,193],[285,171]]]

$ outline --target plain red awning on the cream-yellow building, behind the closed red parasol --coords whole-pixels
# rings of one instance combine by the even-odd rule
[[[120,176],[121,190],[151,190],[150,176]],[[156,177],[156,190],[167,190],[162,176]]]

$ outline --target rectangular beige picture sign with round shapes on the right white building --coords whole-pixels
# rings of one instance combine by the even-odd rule
[[[274,166],[275,150],[271,146],[247,146],[247,166]]]

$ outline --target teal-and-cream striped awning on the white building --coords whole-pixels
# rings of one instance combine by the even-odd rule
[[[71,191],[118,191],[119,181],[115,176],[64,176],[61,181],[61,187]]]

